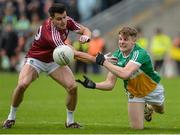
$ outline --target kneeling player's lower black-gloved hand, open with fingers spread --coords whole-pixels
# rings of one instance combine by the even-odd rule
[[[83,75],[84,80],[77,79],[76,82],[81,83],[86,88],[95,89],[96,84],[92,80],[90,80],[87,76]]]

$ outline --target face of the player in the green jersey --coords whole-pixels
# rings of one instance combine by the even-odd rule
[[[124,53],[124,54],[129,54],[134,47],[135,44],[135,39],[133,37],[124,37],[122,35],[119,35],[119,49]]]

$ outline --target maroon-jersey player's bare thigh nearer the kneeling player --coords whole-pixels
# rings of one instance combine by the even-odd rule
[[[59,67],[49,75],[64,88],[76,87],[74,75],[68,66]]]

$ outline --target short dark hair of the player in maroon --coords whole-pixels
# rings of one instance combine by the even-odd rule
[[[54,3],[50,8],[49,8],[49,14],[51,17],[54,17],[55,13],[64,13],[66,11],[66,7],[62,3]]]

